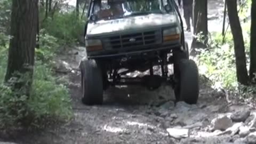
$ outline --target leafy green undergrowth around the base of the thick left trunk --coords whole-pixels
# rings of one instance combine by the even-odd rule
[[[49,37],[45,36],[45,39]],[[54,43],[48,41],[42,45],[46,47],[46,53],[50,53],[47,51],[51,49],[48,47],[50,45]],[[6,47],[7,45],[0,45],[0,129],[17,129],[19,126],[33,125],[41,127],[48,122],[70,119],[72,109],[68,89],[62,84],[57,84],[46,62],[37,60],[35,63],[34,81],[29,98],[20,95],[22,90],[12,91],[11,87],[3,84],[8,52]],[[44,55],[44,58],[49,58],[49,55]]]

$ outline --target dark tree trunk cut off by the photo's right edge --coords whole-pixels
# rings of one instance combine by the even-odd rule
[[[251,7],[251,46],[250,46],[250,78],[253,80],[256,76],[256,1],[252,1]],[[254,79],[255,80],[255,79]]]

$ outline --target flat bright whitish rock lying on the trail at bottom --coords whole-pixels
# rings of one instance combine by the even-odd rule
[[[169,133],[170,137],[176,138],[176,139],[182,139],[189,137],[188,129],[182,129],[182,128],[169,128],[166,129],[166,131]]]

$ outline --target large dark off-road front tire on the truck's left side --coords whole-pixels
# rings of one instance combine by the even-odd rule
[[[85,105],[102,105],[103,81],[102,71],[97,61],[84,60],[80,64],[82,102]]]

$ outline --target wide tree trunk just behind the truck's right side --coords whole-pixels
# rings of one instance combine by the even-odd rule
[[[191,48],[199,47],[206,48],[208,42],[208,20],[207,20],[207,0],[194,0],[193,3],[193,28],[194,37]],[[195,36],[202,33],[202,39],[197,39]]]

